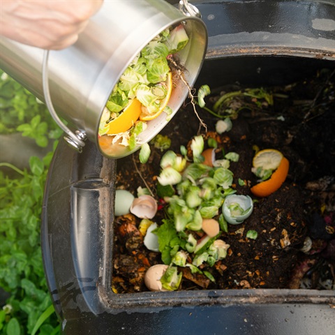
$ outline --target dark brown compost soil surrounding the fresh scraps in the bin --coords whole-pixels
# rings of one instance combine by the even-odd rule
[[[205,107],[211,110],[221,98],[224,117],[232,120],[230,131],[216,133],[219,118],[199,106],[197,116],[186,101],[161,132],[171,140],[169,148],[157,145],[156,139],[150,143],[147,163],[140,163],[138,153],[118,161],[117,188],[136,196],[139,186],[149,187],[160,204],[153,219],[160,225],[165,206],[156,186],[166,150],[179,153],[181,145],[189,149],[193,137],[202,135],[205,148],[209,138],[216,141],[218,155],[239,154],[239,160],[230,164],[233,187],[238,194],[253,198],[253,213],[239,225],[228,224],[228,232],[222,232],[221,239],[230,245],[226,258],[213,267],[200,266],[214,281],[179,267],[183,273],[179,290],[334,290],[335,75],[320,70],[307,79],[284,87],[211,87]],[[251,172],[253,156],[258,149],[268,148],[281,151],[290,161],[290,170],[278,191],[257,198],[250,191],[257,182]],[[146,291],[145,271],[162,264],[161,253],[144,246],[138,232],[140,221],[133,214],[114,220],[112,289],[116,293]],[[125,225],[132,229],[125,230]],[[246,237],[249,230],[258,233],[255,239]]]

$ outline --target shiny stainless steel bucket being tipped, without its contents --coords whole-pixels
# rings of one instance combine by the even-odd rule
[[[177,9],[163,0],[106,0],[77,43],[60,51],[47,52],[1,37],[1,68],[47,103],[54,119],[67,133],[66,141],[78,151],[88,137],[107,157],[127,156],[168,123],[165,113],[148,121],[147,130],[138,136],[133,151],[119,144],[105,150],[98,144],[103,108],[135,56],[164,29],[184,24],[190,40],[178,57],[186,68],[184,79],[190,86],[202,66],[207,29],[198,10],[186,0],[180,2]],[[173,114],[187,95],[188,88],[179,80],[168,104]],[[58,115],[76,129],[75,133],[61,123]]]

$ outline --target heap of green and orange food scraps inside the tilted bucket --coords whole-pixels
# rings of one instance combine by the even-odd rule
[[[147,121],[156,119],[162,112],[170,114],[173,57],[187,43],[188,36],[180,24],[162,31],[133,59],[103,110],[98,131],[103,149],[115,143],[135,148],[136,137],[147,128]]]

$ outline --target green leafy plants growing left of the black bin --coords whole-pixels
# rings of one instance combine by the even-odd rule
[[[45,106],[3,73],[0,92],[0,133],[21,131],[40,147],[59,137],[61,131]],[[0,168],[15,172],[9,177],[0,170],[0,287],[10,294],[0,306],[3,335],[59,334],[40,249],[43,191],[52,154],[31,157],[27,170],[0,163]]]

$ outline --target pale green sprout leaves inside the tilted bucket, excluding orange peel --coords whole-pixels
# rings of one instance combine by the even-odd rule
[[[172,110],[165,106],[171,93],[171,69],[168,59],[172,60],[172,54],[183,49],[188,43],[188,36],[182,25],[165,29],[151,40],[131,61],[131,64],[124,70],[119,81],[115,85],[112,94],[106,103],[103,111],[99,135],[106,135],[108,122],[119,117],[131,99],[137,98],[142,104],[142,113],[155,117],[164,108],[168,119],[172,117]],[[169,80],[167,80],[169,78]],[[163,101],[163,105],[162,105]],[[163,107],[165,106],[165,107]],[[144,128],[140,132],[144,131]],[[114,137],[112,143],[121,138],[121,145],[133,150],[137,144],[137,135],[140,132],[119,133]],[[158,137],[162,139],[163,137]],[[161,149],[168,149],[170,143],[156,139],[156,144]]]

